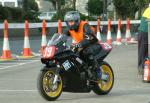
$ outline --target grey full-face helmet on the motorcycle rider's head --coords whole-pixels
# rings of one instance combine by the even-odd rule
[[[80,23],[80,15],[78,11],[69,11],[66,13],[65,17],[64,17],[64,21],[66,22],[67,26],[69,27],[69,29],[71,30],[76,30],[79,23]],[[75,24],[70,26],[68,25],[69,21],[74,21]]]

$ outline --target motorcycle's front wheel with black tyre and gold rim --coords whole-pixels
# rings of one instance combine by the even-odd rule
[[[38,91],[41,96],[48,100],[56,100],[62,93],[62,78],[58,77],[58,81],[53,84],[55,73],[53,70],[41,71],[38,78]]]

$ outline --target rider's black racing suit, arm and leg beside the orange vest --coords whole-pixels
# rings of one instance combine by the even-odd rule
[[[94,32],[90,29],[90,25],[88,23],[84,24],[83,31],[84,39],[77,44],[79,48],[82,48],[79,54],[81,59],[83,59],[86,63],[88,62],[89,66],[92,66],[94,64],[94,51],[92,49],[93,45],[97,44],[98,39],[95,37]],[[69,30],[66,31],[66,34],[70,36]]]

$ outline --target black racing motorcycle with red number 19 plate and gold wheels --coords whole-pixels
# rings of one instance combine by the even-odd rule
[[[96,64],[92,70],[98,79],[92,80],[88,75],[88,64],[81,59],[71,43],[71,38],[60,34],[54,34],[49,40],[41,57],[45,66],[38,77],[37,87],[41,96],[48,101],[54,101],[62,91],[108,94],[114,84],[114,73],[104,58],[112,46],[105,43],[96,45],[98,52],[94,55]]]

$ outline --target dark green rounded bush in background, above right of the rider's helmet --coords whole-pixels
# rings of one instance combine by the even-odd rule
[[[101,0],[89,0],[86,10],[90,15],[101,15],[103,13],[103,2]]]

